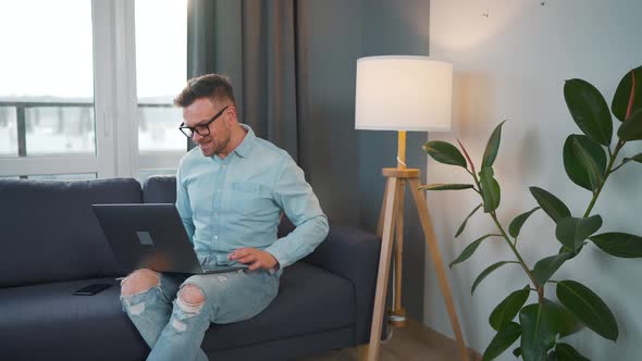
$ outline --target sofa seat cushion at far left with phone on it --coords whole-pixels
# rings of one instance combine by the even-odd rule
[[[92,283],[113,287],[72,295]],[[144,360],[149,349],[119,294],[113,277],[1,288],[0,360]]]

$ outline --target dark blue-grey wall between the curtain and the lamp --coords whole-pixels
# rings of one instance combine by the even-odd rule
[[[308,95],[299,103],[305,171],[331,222],[374,232],[385,187],[381,169],[396,164],[397,135],[355,130],[356,62],[368,55],[427,55],[429,1],[307,0],[297,5],[298,86]],[[394,89],[382,91],[394,97]],[[425,140],[425,133],[408,133],[408,166],[422,174]],[[403,303],[421,321],[424,240],[412,204],[408,194]]]

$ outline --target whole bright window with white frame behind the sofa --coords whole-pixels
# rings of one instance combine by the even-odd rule
[[[186,22],[186,0],[0,1],[0,176],[175,170]]]

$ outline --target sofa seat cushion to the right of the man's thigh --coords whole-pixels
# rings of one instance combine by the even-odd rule
[[[283,270],[276,299],[257,316],[212,325],[203,350],[239,348],[276,339],[354,327],[353,284],[306,262]]]

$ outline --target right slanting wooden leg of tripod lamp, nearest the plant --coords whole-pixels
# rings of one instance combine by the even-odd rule
[[[457,347],[459,349],[459,356],[461,357],[462,361],[469,360],[468,358],[468,350],[466,349],[466,344],[464,341],[464,335],[461,334],[461,328],[459,327],[459,320],[457,319],[457,312],[455,311],[455,304],[453,302],[453,295],[450,294],[450,287],[448,286],[448,281],[446,279],[446,274],[444,272],[444,262],[442,261],[442,256],[440,253],[439,246],[435,240],[434,231],[432,228],[432,224],[430,222],[430,213],[428,211],[428,204],[425,202],[425,198],[423,194],[419,191],[419,179],[411,178],[410,182],[410,189],[412,190],[412,198],[415,198],[415,204],[417,206],[417,211],[419,212],[419,219],[421,220],[421,226],[423,227],[423,233],[425,234],[425,242],[428,244],[428,248],[430,254],[432,257],[432,262],[434,263],[435,272],[437,274],[437,279],[440,282],[440,286],[442,288],[442,294],[444,295],[444,300],[446,301],[446,309],[448,310],[448,315],[450,318],[450,324],[453,325],[453,331],[455,332],[455,338],[457,339]]]

